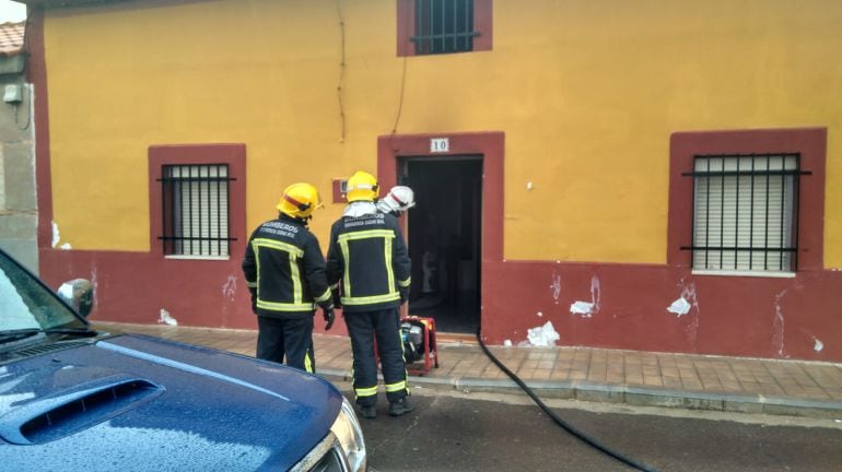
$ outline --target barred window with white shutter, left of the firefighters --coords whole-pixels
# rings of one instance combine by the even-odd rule
[[[164,255],[229,256],[231,181],[226,164],[165,165],[161,205]]]

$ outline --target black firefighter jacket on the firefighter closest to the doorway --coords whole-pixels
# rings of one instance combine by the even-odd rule
[[[327,280],[339,288],[342,309],[375,311],[401,304],[409,291],[410,261],[395,216],[374,212],[343,216],[330,228]]]

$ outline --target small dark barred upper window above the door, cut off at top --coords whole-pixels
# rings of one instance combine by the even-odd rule
[[[417,55],[473,49],[473,0],[416,0]]]

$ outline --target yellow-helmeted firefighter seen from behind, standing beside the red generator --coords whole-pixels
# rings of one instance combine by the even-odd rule
[[[341,291],[342,312],[353,352],[353,389],[363,417],[377,416],[377,364],[381,358],[389,414],[412,411],[404,346],[395,319],[409,293],[407,246],[390,214],[377,211],[377,179],[358,172],[348,180],[348,206],[330,229],[327,278]]]

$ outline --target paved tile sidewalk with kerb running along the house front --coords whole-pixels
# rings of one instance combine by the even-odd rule
[[[109,332],[152,334],[254,356],[257,331],[97,323]],[[347,337],[314,335],[316,370],[350,380]],[[842,421],[842,364],[651,353],[590,347],[490,351],[541,398]],[[475,338],[440,334],[438,368],[410,385],[464,391],[521,392]]]

